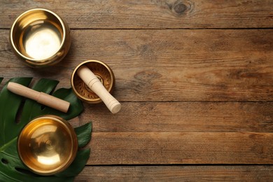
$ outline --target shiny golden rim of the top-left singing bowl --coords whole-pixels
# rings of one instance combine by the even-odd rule
[[[20,55],[20,57],[23,57],[24,59],[29,60],[31,62],[31,64],[34,64],[34,65],[38,64],[39,62],[44,62],[46,60],[49,60],[50,58],[54,57],[56,55],[56,53],[57,53],[57,52],[55,52],[54,55],[52,55],[50,57],[47,57],[47,58],[44,58],[44,59],[34,59],[32,57],[27,57],[27,56],[23,55],[18,50],[18,48],[15,46],[15,41],[13,40],[13,32],[14,32],[14,29],[15,29],[15,25],[18,23],[18,20],[20,20],[20,18],[22,18],[22,16],[26,15],[27,13],[30,13],[31,11],[36,11],[36,10],[46,11],[46,12],[54,15],[55,18],[57,18],[59,20],[59,22],[61,23],[61,25],[62,25],[62,31],[64,32],[63,33],[64,36],[62,37],[62,43],[61,43],[61,45],[59,45],[59,49],[57,50],[57,52],[59,52],[59,50],[62,50],[62,47],[64,46],[64,41],[66,39],[66,34],[67,34],[64,20],[62,20],[62,18],[59,15],[57,15],[57,13],[53,12],[52,10],[48,10],[46,8],[32,8],[32,9],[27,10],[27,11],[21,13],[20,15],[18,15],[18,18],[16,18],[14,20],[13,25],[10,28],[10,43],[11,43],[13,49],[15,50],[15,52],[18,53],[18,55]],[[48,61],[48,64],[49,63],[50,63],[50,61]]]

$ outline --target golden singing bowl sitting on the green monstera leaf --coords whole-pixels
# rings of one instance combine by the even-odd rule
[[[18,153],[32,172],[52,175],[69,167],[78,150],[73,127],[57,116],[31,120],[18,137]]]

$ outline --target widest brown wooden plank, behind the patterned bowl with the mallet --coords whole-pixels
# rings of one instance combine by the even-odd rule
[[[270,29],[75,30],[69,55],[37,71],[18,61],[8,31],[0,32],[4,77],[54,76],[69,83],[76,65],[99,59],[113,69],[122,102],[273,101]]]

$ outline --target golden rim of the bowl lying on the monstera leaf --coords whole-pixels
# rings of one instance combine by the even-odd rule
[[[29,127],[29,125],[38,122],[38,120],[41,119],[50,119],[50,120],[54,120],[57,123],[61,123],[61,125],[63,125],[68,134],[69,137],[71,137],[71,141],[73,146],[71,147],[71,153],[69,155],[69,158],[67,160],[65,160],[65,162],[62,165],[59,165],[59,167],[56,167],[55,169],[50,169],[50,170],[40,170],[40,169],[36,169],[30,165],[28,165],[25,162],[25,158],[22,156],[22,149],[20,150],[20,141],[22,140],[22,134],[25,130],[27,130],[27,128]],[[55,115],[43,115],[43,116],[38,116],[34,119],[32,119],[29,123],[27,123],[27,125],[25,125],[25,127],[23,127],[23,129],[21,130],[19,136],[18,136],[18,141],[17,141],[17,147],[18,147],[18,154],[20,156],[20,159],[22,160],[22,162],[31,170],[31,172],[34,172],[36,174],[40,174],[40,175],[52,175],[52,174],[57,174],[59,172],[64,171],[67,167],[69,167],[69,165],[71,165],[71,163],[73,162],[73,160],[76,158],[76,153],[78,151],[78,138],[76,135],[76,132],[74,131],[73,127],[69,124],[68,121],[64,120],[63,118],[60,118],[59,116],[55,116]]]

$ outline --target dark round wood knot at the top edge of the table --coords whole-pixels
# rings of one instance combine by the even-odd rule
[[[168,4],[169,9],[176,15],[185,15],[193,10],[194,3],[191,1],[175,1],[173,4]]]

